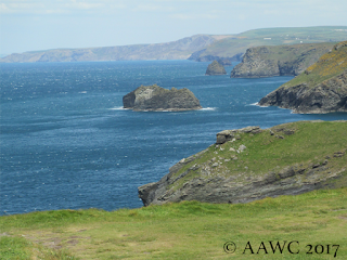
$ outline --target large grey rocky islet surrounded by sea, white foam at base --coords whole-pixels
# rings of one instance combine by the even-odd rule
[[[188,89],[167,90],[159,86],[141,86],[123,96],[124,108],[133,110],[194,110],[201,109],[200,101]]]

